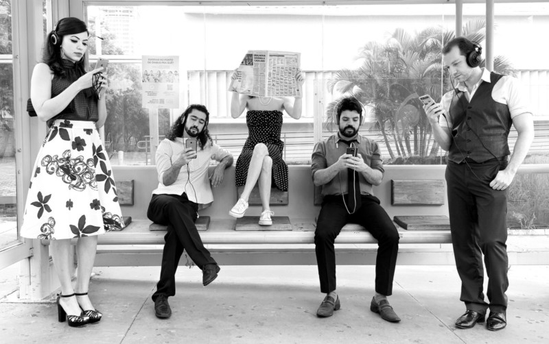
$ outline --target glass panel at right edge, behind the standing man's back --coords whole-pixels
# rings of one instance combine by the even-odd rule
[[[546,45],[539,44],[539,38],[549,29],[549,3],[496,3],[494,10],[495,62],[520,80],[534,116],[535,139],[524,163],[548,164],[549,61]],[[498,60],[498,57],[502,58]],[[509,137],[510,147],[515,145],[516,138],[513,128]],[[547,228],[548,194],[547,173],[516,175],[508,191],[507,225],[525,230]]]

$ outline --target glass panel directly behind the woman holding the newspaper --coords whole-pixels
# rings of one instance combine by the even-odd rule
[[[322,74],[322,8],[311,6],[231,6],[201,8],[205,12],[205,73],[207,106],[211,112],[210,134],[235,159],[240,156],[248,126],[246,113],[231,117],[228,92],[233,71],[249,49],[301,53],[305,73],[302,113],[294,119],[283,113],[280,139],[287,164],[308,164],[314,145],[314,79]],[[303,29],[306,27],[307,29]],[[240,34],[245,33],[245,34]],[[189,72],[190,73],[190,72]],[[193,88],[189,84],[189,90]],[[292,97],[292,102],[295,100]],[[311,106],[307,106],[311,104]]]

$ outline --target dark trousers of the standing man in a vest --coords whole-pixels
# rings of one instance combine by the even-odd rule
[[[490,182],[506,160],[456,164],[448,162],[446,182],[452,245],[461,279],[461,297],[468,310],[503,312],[507,308],[507,191],[497,191]],[[484,302],[484,265],[489,278]]]

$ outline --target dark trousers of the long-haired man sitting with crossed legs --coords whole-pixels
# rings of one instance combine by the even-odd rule
[[[160,280],[152,295],[153,301],[159,295],[176,295],[175,275],[183,249],[200,269],[207,264],[215,264],[194,225],[198,218],[197,210],[198,205],[189,201],[185,193],[181,196],[152,195],[147,217],[150,221],[167,225]]]

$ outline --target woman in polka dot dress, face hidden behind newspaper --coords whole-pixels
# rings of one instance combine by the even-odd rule
[[[232,79],[236,78],[236,71]],[[300,86],[305,82],[301,71],[296,73],[296,81]],[[231,101],[231,116],[233,119],[242,115],[248,108],[246,124],[249,136],[242,148],[242,153],[236,163],[236,186],[244,186],[237,203],[229,214],[233,217],[243,217],[248,209],[248,198],[255,183],[259,180],[259,195],[261,197],[261,217],[259,225],[272,225],[270,210],[270,188],[274,186],[281,191],[288,191],[288,166],[282,160],[283,142],[280,140],[282,128],[282,111],[285,110],[294,119],[301,117],[301,97],[252,97],[233,93]]]

